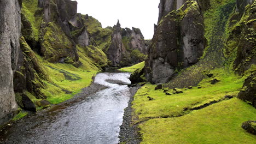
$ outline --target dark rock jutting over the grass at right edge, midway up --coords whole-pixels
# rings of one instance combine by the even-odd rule
[[[243,83],[242,90],[238,93],[238,98],[244,101],[249,101],[256,108],[256,71],[247,77]]]

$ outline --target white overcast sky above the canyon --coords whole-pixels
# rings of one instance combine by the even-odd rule
[[[159,0],[76,0],[78,13],[88,14],[101,22],[102,27],[117,24],[140,28],[145,39],[152,39],[154,23],[158,21]]]

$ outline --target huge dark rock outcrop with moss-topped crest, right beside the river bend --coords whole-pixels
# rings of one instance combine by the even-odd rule
[[[170,11],[176,7],[162,8]],[[205,45],[201,5],[199,1],[188,1],[159,22],[146,61],[147,79],[152,83],[167,82],[177,70],[197,63]]]

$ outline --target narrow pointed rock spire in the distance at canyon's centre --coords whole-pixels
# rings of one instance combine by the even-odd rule
[[[107,56],[114,67],[123,67],[131,63],[131,57],[122,42],[122,29],[118,21],[113,27],[112,42],[108,48]]]

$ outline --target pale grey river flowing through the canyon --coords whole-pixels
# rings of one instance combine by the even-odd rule
[[[124,109],[131,97],[130,88],[125,85],[130,83],[129,76],[129,73],[97,74],[94,82],[108,88],[72,106],[56,106],[52,108],[54,110],[22,119],[9,128],[13,130],[7,130],[5,142],[118,143]],[[14,133],[20,134],[16,136]]]

